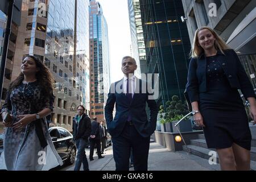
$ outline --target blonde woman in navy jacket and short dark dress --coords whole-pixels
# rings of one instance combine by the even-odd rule
[[[208,148],[216,148],[222,170],[250,170],[251,133],[238,89],[250,102],[254,124],[256,102],[236,52],[212,28],[201,27],[191,57],[186,89]]]

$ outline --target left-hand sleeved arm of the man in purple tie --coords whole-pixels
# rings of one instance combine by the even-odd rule
[[[110,88],[114,86],[113,84],[110,86]],[[106,101],[105,106],[105,118],[107,125],[109,125],[109,123],[113,121],[113,109],[115,105],[115,93],[111,93],[110,91],[111,89],[109,90],[108,100]]]

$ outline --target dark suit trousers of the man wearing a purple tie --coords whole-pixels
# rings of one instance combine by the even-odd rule
[[[114,137],[112,142],[116,171],[129,171],[131,148],[133,148],[134,170],[147,171],[150,137],[142,137],[134,125],[127,123],[121,135]]]

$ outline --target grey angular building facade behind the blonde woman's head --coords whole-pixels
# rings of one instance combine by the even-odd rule
[[[256,1],[182,0],[190,42],[197,28],[208,26],[239,55],[256,88]]]

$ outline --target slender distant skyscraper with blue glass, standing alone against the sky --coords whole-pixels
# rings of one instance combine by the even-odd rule
[[[104,119],[110,88],[108,24],[100,3],[90,0],[90,116]]]

